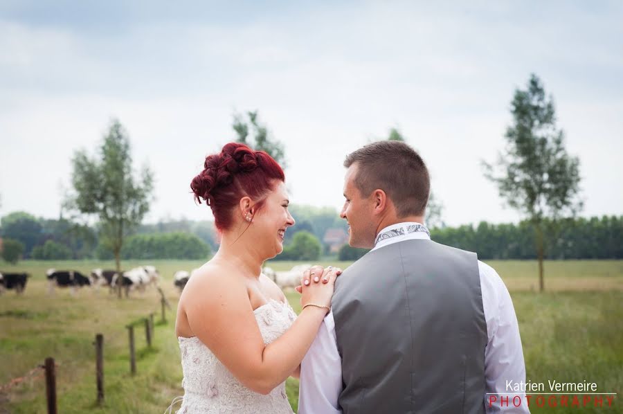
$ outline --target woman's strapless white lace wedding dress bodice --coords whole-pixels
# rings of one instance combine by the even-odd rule
[[[287,303],[270,300],[253,311],[264,343],[281,336],[296,314]],[[184,397],[177,413],[291,414],[285,382],[268,395],[246,388],[225,368],[212,351],[195,336],[179,337],[184,374]]]

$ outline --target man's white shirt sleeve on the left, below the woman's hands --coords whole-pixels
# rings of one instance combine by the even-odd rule
[[[300,364],[299,414],[341,414],[342,359],[338,352],[333,313],[329,312]]]

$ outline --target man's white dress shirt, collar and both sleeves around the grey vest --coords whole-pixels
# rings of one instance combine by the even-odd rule
[[[404,240],[430,240],[428,233],[418,231],[408,233],[407,226],[418,223],[398,223],[383,228],[380,233],[403,228],[403,235],[396,235],[385,240],[379,240],[374,249]],[[527,402],[521,395],[521,406],[500,406],[498,402],[489,407],[491,393],[508,393],[507,381],[512,384],[525,383],[525,363],[515,309],[508,289],[498,276],[498,273],[489,265],[478,260],[480,273],[480,289],[482,291],[482,308],[487,323],[488,341],[485,347],[485,408],[487,413],[530,413]],[[426,381],[423,378],[422,381]],[[338,352],[335,321],[333,313],[325,316],[320,325],[316,339],[305,355],[300,367],[300,387],[298,394],[299,414],[340,414],[338,397],[342,391],[342,359]],[[512,395],[510,399],[512,400]]]

